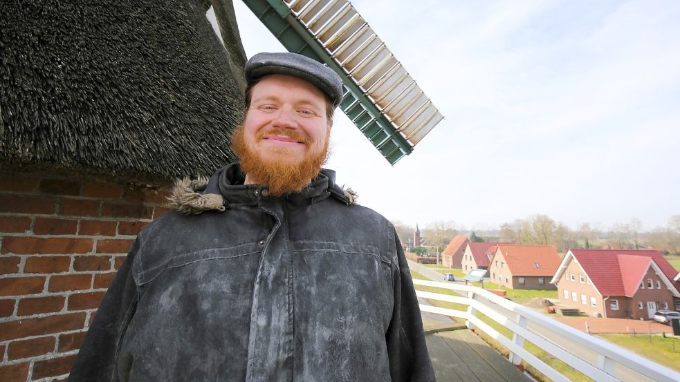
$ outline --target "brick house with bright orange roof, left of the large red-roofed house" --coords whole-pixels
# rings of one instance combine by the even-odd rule
[[[499,244],[489,276],[499,287],[509,289],[556,289],[549,281],[561,260],[552,245]]]

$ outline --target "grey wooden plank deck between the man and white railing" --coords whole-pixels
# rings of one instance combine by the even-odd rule
[[[531,381],[465,325],[428,315],[423,326],[438,382]]]

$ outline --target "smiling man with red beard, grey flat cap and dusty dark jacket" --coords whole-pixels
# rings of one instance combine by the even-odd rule
[[[246,64],[240,164],[138,236],[70,381],[434,381],[394,227],[322,170],[342,82]],[[203,188],[203,187],[201,187]]]

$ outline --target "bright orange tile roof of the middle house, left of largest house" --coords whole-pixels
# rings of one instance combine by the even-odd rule
[[[562,262],[552,245],[499,244],[497,250],[502,252],[513,276],[553,276]]]

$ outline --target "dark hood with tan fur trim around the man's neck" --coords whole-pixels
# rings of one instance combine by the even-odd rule
[[[344,204],[356,204],[358,195],[351,188],[344,189],[334,182],[335,172],[322,169],[318,178],[299,194],[286,198],[307,199],[310,202],[332,196]],[[257,192],[264,190],[264,192]],[[199,176],[196,179],[183,178],[175,181],[167,200],[172,209],[183,213],[201,213],[203,211],[225,211],[229,204],[253,202],[266,196],[266,187],[260,185],[243,185],[243,175],[238,164],[223,167],[212,177]]]

